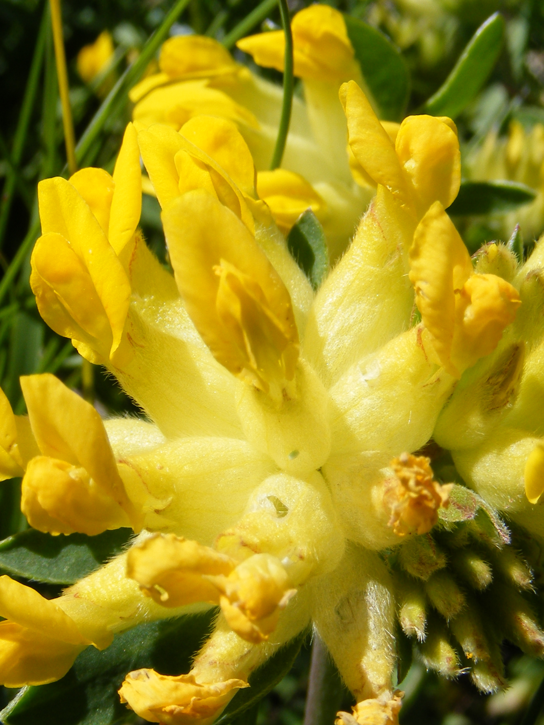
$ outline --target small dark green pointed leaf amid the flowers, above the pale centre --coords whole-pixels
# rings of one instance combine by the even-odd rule
[[[318,289],[329,272],[329,250],[323,227],[311,209],[300,215],[289,232],[287,247],[313,289]]]

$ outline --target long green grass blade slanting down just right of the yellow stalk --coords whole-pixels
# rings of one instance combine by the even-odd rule
[[[75,147],[75,157],[78,163],[86,157],[89,149],[93,146],[96,137],[104,128],[104,123],[111,117],[112,109],[119,104],[120,100],[128,94],[132,86],[140,79],[141,74],[147,68],[149,61],[154,56],[162,41],[168,36],[171,25],[178,19],[178,16],[189,4],[189,0],[178,0],[168,15],[155,30],[153,35],[145,43],[139,57],[125,70],[123,75],[115,83],[112,90],[107,94],[102,105],[94,114],[91,123],[87,126],[83,136]]]

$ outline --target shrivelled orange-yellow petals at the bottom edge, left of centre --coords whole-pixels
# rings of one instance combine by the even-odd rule
[[[149,722],[207,725],[241,687],[249,685],[240,679],[201,684],[190,673],[176,677],[144,669],[129,672],[119,694],[122,703]]]

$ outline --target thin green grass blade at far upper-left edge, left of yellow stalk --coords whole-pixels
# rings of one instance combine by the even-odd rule
[[[47,30],[49,25],[49,12],[47,12],[47,6],[44,9],[44,14],[41,18],[40,29],[38,30],[38,38],[36,39],[36,47],[34,49],[34,56],[32,59],[32,65],[30,65],[30,73],[25,88],[25,97],[22,99],[22,107],[19,114],[19,120],[17,122],[17,129],[15,130],[15,137],[13,139],[12,153],[9,161],[9,170],[7,172],[7,178],[4,183],[4,189],[2,191],[2,202],[0,206],[0,249],[2,241],[4,240],[4,234],[6,233],[7,223],[9,220],[9,212],[12,208],[13,194],[18,178],[18,166],[21,162],[22,152],[25,148],[26,136],[28,133],[28,125],[30,123],[30,116],[34,103],[36,101],[36,94],[38,92],[38,81],[41,73],[41,66],[44,61],[44,48],[47,36]]]

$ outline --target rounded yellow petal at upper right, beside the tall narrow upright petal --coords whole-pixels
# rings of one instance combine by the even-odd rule
[[[395,150],[411,185],[418,217],[436,201],[449,207],[461,183],[461,153],[453,121],[408,116],[400,125]]]

